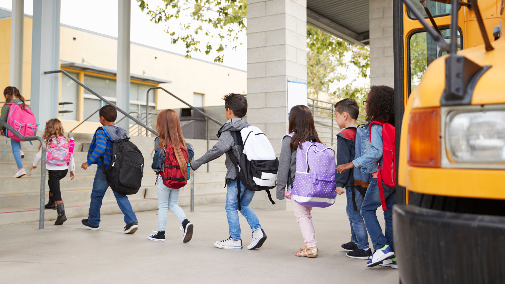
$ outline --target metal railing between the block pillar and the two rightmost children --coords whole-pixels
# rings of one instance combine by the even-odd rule
[[[331,144],[331,146],[337,145],[337,137],[335,135],[342,131],[342,129],[335,122],[334,103],[307,98],[307,106],[312,111],[316,128],[319,128],[317,132],[321,141],[325,144]],[[365,117],[365,115],[360,113],[356,122],[358,124],[365,123]]]

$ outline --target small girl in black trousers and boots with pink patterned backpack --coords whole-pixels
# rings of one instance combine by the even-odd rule
[[[75,177],[74,154],[69,152],[70,139],[65,136],[62,122],[57,118],[49,119],[45,123],[44,134],[42,138],[45,141],[47,155],[45,170],[48,172],[49,179],[49,202],[45,205],[47,209],[56,209],[58,218],[55,225],[62,225],[67,220],[65,216],[65,207],[63,206],[62,194],[60,191],[60,180],[68,173],[70,167],[70,179]],[[33,160],[32,168],[37,168],[42,160],[42,149],[38,146],[38,153]]]

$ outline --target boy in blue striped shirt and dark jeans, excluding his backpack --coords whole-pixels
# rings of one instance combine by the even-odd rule
[[[91,164],[97,164],[95,177],[93,180],[93,189],[91,190],[91,204],[89,205],[89,213],[87,219],[82,219],[82,226],[90,230],[98,230],[100,224],[100,207],[102,207],[102,200],[109,184],[104,173],[102,173],[102,163],[100,158],[104,157],[105,167],[109,167],[112,158],[113,142],[119,142],[126,138],[127,132],[122,127],[114,125],[114,121],[118,116],[116,108],[111,105],[104,106],[98,112],[100,116],[100,124],[102,126],[96,129],[93,135],[93,140],[88,150],[87,162],[82,164],[83,169],[87,169]],[[137,217],[133,213],[128,197],[113,191],[119,208],[125,215],[124,227],[125,233],[134,233],[138,229]]]

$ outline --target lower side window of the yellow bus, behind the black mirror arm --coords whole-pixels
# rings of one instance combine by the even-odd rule
[[[447,42],[450,42],[449,27],[440,27],[440,32]],[[458,30],[458,50],[461,49],[463,38],[461,30]],[[424,30],[417,30],[409,36],[409,74],[410,74],[410,92],[419,84],[421,77],[424,75],[426,68],[433,62],[433,60],[446,55],[442,52],[436,43],[433,41],[431,35]]]

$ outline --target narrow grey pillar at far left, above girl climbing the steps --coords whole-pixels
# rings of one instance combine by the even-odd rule
[[[9,84],[23,93],[23,27],[24,0],[12,0],[11,17],[11,70]]]

